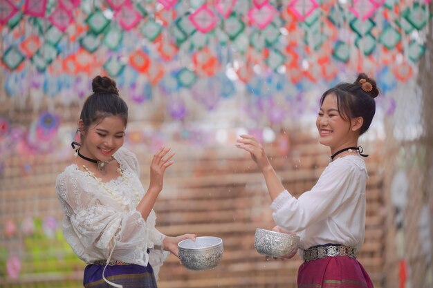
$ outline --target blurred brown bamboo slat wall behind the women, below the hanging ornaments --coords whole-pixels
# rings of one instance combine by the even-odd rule
[[[325,148],[314,137],[301,131],[283,133],[289,142],[268,144],[268,154],[284,185],[295,195],[311,189],[328,164]],[[279,144],[286,143],[288,152]],[[218,236],[223,239],[225,252],[219,267],[210,271],[189,271],[177,258],[169,256],[160,271],[158,285],[174,287],[295,287],[297,268],[301,260],[272,260],[259,255],[254,247],[257,227],[273,227],[270,199],[263,177],[250,157],[225,146],[197,148],[173,144],[176,163],[167,171],[165,189],[155,206],[157,225],[167,235],[198,233],[199,236]],[[376,148],[374,148],[376,147]],[[150,155],[142,146],[130,146],[142,164],[142,182],[147,185]],[[365,244],[359,260],[365,265],[376,287],[384,285],[385,213],[383,213],[383,175],[378,157],[380,146],[365,144],[371,153],[367,158],[367,229]],[[24,222],[27,215],[44,219],[62,217],[54,191],[57,173],[69,159],[59,162],[53,156],[34,159],[12,157],[1,179],[0,225],[14,219]],[[23,173],[26,163],[33,171]],[[43,226],[43,225],[42,225]],[[40,231],[39,231],[40,232]],[[64,244],[61,233],[53,238],[34,233],[28,238],[17,233],[2,236],[0,247],[21,251],[22,270],[19,280],[0,274],[0,287],[81,287],[82,269],[71,249]],[[39,248],[34,251],[35,245]],[[33,248],[29,248],[33,247]],[[0,259],[4,269],[3,250]],[[1,254],[0,254],[1,256]],[[4,270],[3,270],[4,271]]]

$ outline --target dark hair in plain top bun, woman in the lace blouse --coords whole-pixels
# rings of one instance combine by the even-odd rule
[[[94,122],[100,122],[107,116],[120,116],[127,126],[128,106],[120,98],[116,81],[109,77],[96,76],[92,81],[93,94],[84,102],[80,119],[84,122],[84,131]]]

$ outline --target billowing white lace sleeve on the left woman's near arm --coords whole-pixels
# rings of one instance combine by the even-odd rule
[[[100,193],[98,184],[76,177],[59,175],[56,191],[65,212],[64,234],[77,256],[85,262],[107,259],[113,242],[112,259],[147,265],[147,249],[154,247],[154,227],[136,210],[124,211]]]

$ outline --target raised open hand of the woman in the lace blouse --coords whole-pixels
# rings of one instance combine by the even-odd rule
[[[167,167],[172,166],[174,152],[169,153],[171,148],[161,147],[155,153],[150,164],[149,190],[160,193],[163,190],[164,173]]]

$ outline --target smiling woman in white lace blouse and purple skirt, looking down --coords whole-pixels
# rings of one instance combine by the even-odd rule
[[[155,228],[153,207],[174,153],[168,147],[155,153],[145,190],[136,155],[122,147],[128,107],[116,82],[97,76],[92,88],[78,120],[80,143],[72,143],[75,159],[55,184],[64,237],[87,263],[84,287],[156,287],[168,253],[178,256],[178,242],[196,239],[165,236]]]

